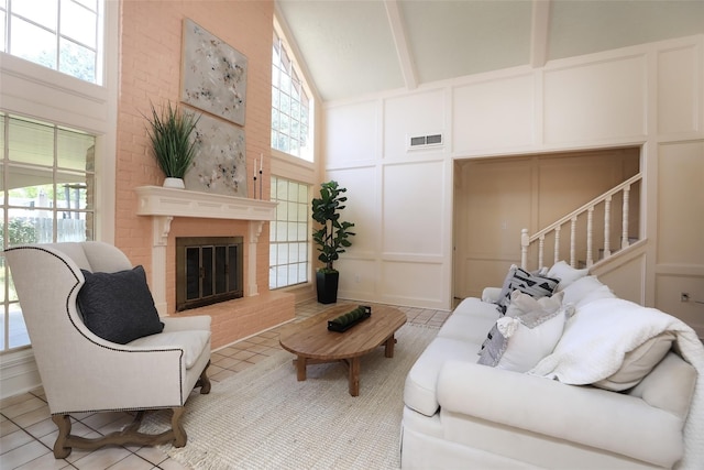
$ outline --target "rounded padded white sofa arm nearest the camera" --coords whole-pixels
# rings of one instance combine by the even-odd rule
[[[438,378],[438,400],[441,418],[463,415],[520,436],[551,436],[664,468],[671,468],[683,453],[682,419],[623,393],[447,361]],[[482,438],[470,429],[458,426],[454,431],[446,430],[446,436],[465,445]],[[502,444],[510,446],[510,440]],[[572,467],[562,468],[580,467],[573,461]]]

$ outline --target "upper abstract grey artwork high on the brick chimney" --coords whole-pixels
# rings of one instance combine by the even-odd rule
[[[182,101],[244,125],[246,57],[189,19],[183,54]]]

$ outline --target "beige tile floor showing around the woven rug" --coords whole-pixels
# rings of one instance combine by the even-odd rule
[[[315,300],[296,306],[296,320],[310,317],[327,308]],[[449,311],[399,307],[413,324],[440,327]],[[282,327],[212,352],[209,376],[222,381],[245,370],[280,350],[278,335]],[[128,413],[94,413],[74,416],[72,431],[96,437],[120,430],[131,423]],[[111,446],[94,451],[75,449],[66,459],[56,460],[52,452],[57,429],[51,419],[42,390],[0,401],[0,470],[10,469],[111,469],[175,470],[184,467],[154,447]]]

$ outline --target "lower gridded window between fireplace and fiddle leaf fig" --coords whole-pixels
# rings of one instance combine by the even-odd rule
[[[270,229],[270,288],[308,282],[308,185],[272,177],[271,200],[278,206]]]

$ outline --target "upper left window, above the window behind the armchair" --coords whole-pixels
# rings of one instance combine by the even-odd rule
[[[101,85],[102,0],[0,0],[2,52]]]

